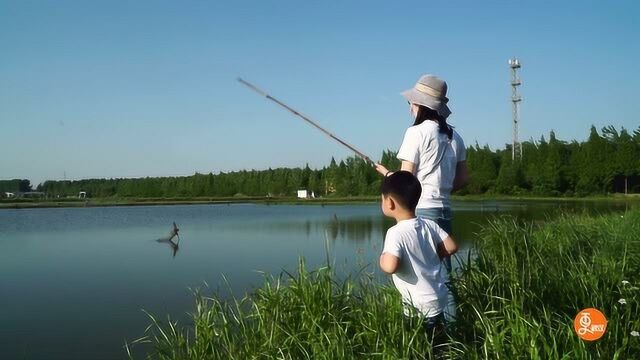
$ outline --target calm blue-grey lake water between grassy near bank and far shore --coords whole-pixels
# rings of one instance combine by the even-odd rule
[[[607,213],[638,202],[454,202],[463,246],[495,216],[544,221],[560,211]],[[166,237],[180,227],[177,252]],[[189,289],[242,296],[263,273],[326,263],[375,266],[393,225],[378,204],[185,205],[0,210],[0,359],[123,359],[145,309],[185,318]],[[208,284],[208,285],[207,285]],[[143,348],[137,348],[143,351]]]

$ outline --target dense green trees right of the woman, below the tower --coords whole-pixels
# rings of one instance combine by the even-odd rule
[[[549,140],[522,143],[522,160],[512,161],[511,146],[491,151],[467,149],[471,182],[465,192],[482,194],[588,195],[640,192],[640,127],[630,134],[612,126],[595,127],[585,142]],[[626,191],[625,191],[626,190]]]

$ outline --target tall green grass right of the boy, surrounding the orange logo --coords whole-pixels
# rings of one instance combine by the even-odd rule
[[[536,228],[512,218],[479,234],[457,280],[465,358],[632,359],[640,354],[640,211],[564,216]],[[623,280],[630,284],[624,285]],[[626,305],[618,303],[625,299]],[[573,318],[596,307],[608,330],[580,340]]]

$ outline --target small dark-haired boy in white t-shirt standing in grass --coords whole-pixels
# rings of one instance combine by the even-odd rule
[[[387,231],[380,268],[393,274],[405,314],[409,315],[411,306],[425,317],[427,329],[440,328],[449,293],[441,260],[453,255],[458,246],[434,221],[416,217],[422,189],[411,173],[397,171],[385,177],[381,192],[382,212],[397,223]]]

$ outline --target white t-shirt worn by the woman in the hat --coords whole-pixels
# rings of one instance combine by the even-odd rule
[[[412,126],[404,134],[397,157],[414,163],[418,169],[416,177],[422,184],[418,209],[450,206],[456,166],[466,160],[464,142],[455,130],[449,141],[435,121]]]

